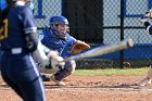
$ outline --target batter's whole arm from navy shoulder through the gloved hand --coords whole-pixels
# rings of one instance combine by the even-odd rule
[[[43,47],[38,39],[37,34],[37,27],[35,24],[35,18],[31,13],[31,11],[28,8],[25,8],[25,13],[23,13],[23,24],[24,24],[24,31],[25,31],[25,40],[26,40],[26,47],[27,49],[33,53],[34,59],[40,62],[40,65],[42,67],[52,66],[51,68],[58,67],[58,65],[63,65],[62,58],[59,58],[59,55],[55,56],[55,60],[50,58],[50,55],[47,55],[43,51]],[[27,14],[28,13],[28,14]],[[51,64],[52,61],[56,61],[56,64]]]

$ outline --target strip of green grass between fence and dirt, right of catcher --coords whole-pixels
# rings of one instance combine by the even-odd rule
[[[73,75],[145,75],[148,68],[105,68],[105,70],[76,70]]]

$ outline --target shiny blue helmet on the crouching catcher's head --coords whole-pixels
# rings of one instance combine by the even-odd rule
[[[54,28],[58,24],[68,25],[68,21],[64,16],[52,16],[50,18],[50,27]]]

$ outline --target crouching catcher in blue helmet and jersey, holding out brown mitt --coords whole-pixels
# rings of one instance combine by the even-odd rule
[[[52,16],[49,23],[50,27],[46,26],[39,34],[41,43],[49,50],[55,50],[59,52],[59,55],[66,59],[90,48],[86,42],[76,40],[74,37],[69,36],[68,21],[66,17]],[[64,86],[65,84],[62,81],[63,78],[71,75],[75,71],[75,67],[76,63],[74,60],[66,62],[64,68],[59,70],[50,78],[56,83],[56,85]],[[42,77],[43,80],[48,80],[45,79],[46,75]]]

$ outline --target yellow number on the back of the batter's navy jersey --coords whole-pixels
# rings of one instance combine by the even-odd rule
[[[8,20],[3,20],[3,24],[0,27],[0,40],[4,39],[8,37]]]

